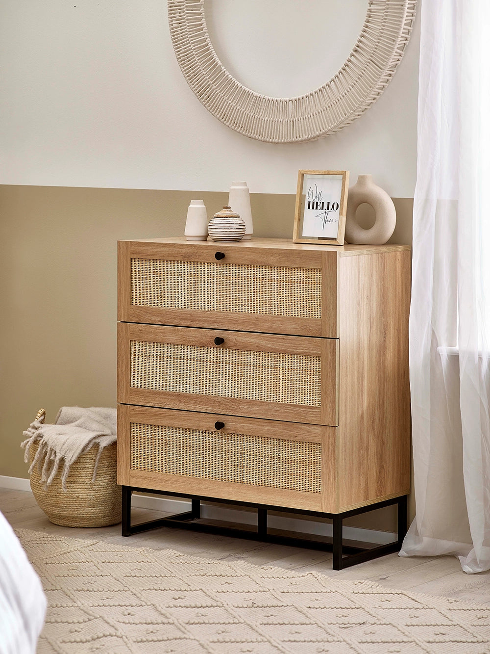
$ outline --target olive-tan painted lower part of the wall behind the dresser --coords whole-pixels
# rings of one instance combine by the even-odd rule
[[[191,199],[226,192],[0,186],[0,475],[27,477],[22,432],[40,407],[116,405],[116,241],[178,236]],[[393,242],[413,200],[395,198]],[[291,238],[295,196],[252,194],[255,236]]]

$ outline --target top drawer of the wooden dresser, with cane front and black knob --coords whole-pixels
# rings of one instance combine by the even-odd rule
[[[336,337],[336,252],[118,243],[118,320]]]

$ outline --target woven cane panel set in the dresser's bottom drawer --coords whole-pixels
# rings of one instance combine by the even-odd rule
[[[131,469],[321,492],[321,444],[131,423]]]

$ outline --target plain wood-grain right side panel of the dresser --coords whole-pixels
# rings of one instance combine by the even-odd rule
[[[408,250],[339,264],[340,508],[410,486]]]

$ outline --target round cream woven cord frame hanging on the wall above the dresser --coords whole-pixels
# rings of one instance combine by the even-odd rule
[[[367,0],[344,65],[323,86],[296,97],[261,95],[228,73],[208,35],[204,0],[169,0],[168,7],[177,61],[204,107],[251,139],[301,143],[344,128],[380,97],[402,60],[417,0]]]

